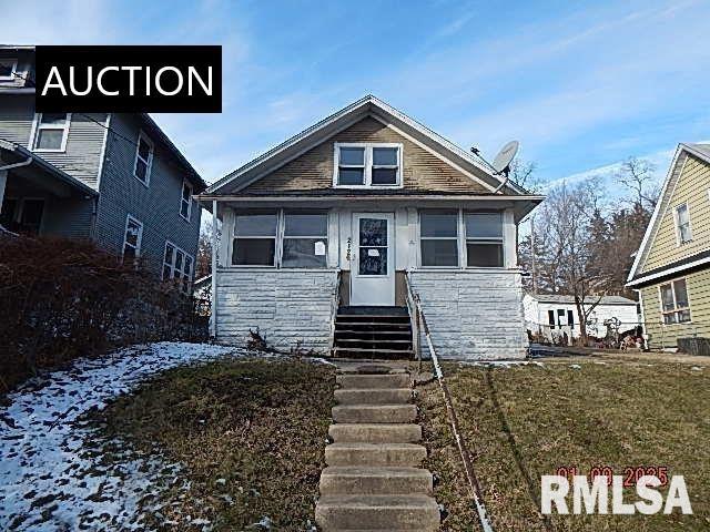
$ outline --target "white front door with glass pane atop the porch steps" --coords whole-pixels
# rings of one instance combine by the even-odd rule
[[[351,305],[394,305],[394,215],[353,214],[353,235]]]

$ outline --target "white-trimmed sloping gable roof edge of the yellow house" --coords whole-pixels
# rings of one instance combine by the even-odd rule
[[[666,174],[666,180],[663,181],[661,194],[658,198],[658,202],[656,203],[656,208],[653,209],[651,219],[648,224],[648,227],[646,228],[646,233],[643,234],[641,245],[639,246],[639,249],[636,253],[636,257],[633,258],[633,265],[631,266],[631,270],[629,272],[629,276],[627,277],[627,286],[636,286],[642,284],[645,280],[650,280],[646,279],[647,276],[657,278],[662,275],[662,272],[660,270],[676,268],[677,266],[683,266],[679,264],[669,264],[668,266],[665,266],[662,268],[656,268],[659,272],[655,269],[653,272],[647,272],[643,274],[641,273],[643,263],[648,257],[648,253],[661,225],[662,213],[668,207],[668,204],[673,194],[673,190],[676,187],[676,183],[680,178],[683,162],[688,157],[688,154],[691,154],[710,164],[710,144],[678,144],[676,154],[673,155],[670,166],[668,167],[668,173]]]

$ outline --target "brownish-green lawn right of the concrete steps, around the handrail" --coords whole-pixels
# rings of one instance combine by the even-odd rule
[[[513,367],[449,365],[445,374],[465,439],[478,453],[475,469],[496,530],[710,529],[710,359],[576,357]],[[439,478],[435,495],[448,512],[442,530],[471,530],[477,519],[436,381],[419,388],[418,403],[427,467]],[[544,521],[540,475],[559,467],[589,474],[595,466],[610,466],[615,474],[629,466],[666,466],[669,475],[683,474],[693,515],[676,510]],[[633,490],[627,493],[625,502],[638,500]]]

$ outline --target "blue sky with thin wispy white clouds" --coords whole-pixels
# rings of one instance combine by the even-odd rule
[[[373,93],[549,182],[710,139],[708,1],[7,2],[0,39],[222,44],[221,115],[159,114],[213,182]],[[599,170],[601,168],[601,170]]]

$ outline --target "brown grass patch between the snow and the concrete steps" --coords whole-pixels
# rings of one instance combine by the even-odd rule
[[[210,522],[217,531],[303,531],[325,467],[334,387],[327,365],[219,361],[161,374],[98,419],[108,441],[182,466],[173,488],[146,501],[159,530]]]

